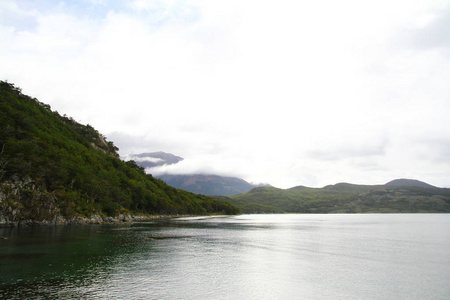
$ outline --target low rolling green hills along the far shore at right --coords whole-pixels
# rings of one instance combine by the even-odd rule
[[[259,187],[239,195],[215,197],[244,213],[425,213],[450,212],[450,189],[398,179],[385,185],[338,183],[323,188]]]

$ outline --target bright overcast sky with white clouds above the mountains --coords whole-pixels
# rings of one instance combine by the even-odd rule
[[[450,1],[2,0],[0,80],[154,175],[450,187]]]

